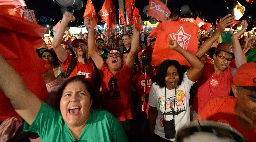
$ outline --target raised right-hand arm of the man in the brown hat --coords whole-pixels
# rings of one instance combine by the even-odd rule
[[[236,66],[237,68],[233,69],[231,71],[231,75],[235,75],[237,69],[244,63],[247,63],[247,59],[246,59],[246,56],[241,48],[241,45],[239,43],[239,37],[245,32],[248,24],[245,20],[243,20],[241,22],[242,24],[242,29],[236,33],[235,35],[232,36],[232,42],[233,42],[233,46],[234,46],[234,53],[235,53],[235,59],[236,59]]]

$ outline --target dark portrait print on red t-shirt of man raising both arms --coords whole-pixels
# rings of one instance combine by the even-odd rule
[[[116,91],[117,89],[117,79],[114,79],[113,77],[110,78],[108,82],[108,88],[109,91],[104,92],[106,99],[120,99],[121,95],[119,91]]]

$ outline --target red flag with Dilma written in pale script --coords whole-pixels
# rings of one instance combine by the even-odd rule
[[[164,14],[164,7],[165,7],[165,4],[163,4],[160,0],[150,0],[148,16],[154,17],[160,21],[162,21],[166,17],[168,18],[171,12],[166,7],[166,11]]]

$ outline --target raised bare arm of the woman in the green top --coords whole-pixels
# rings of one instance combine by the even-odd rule
[[[32,124],[41,107],[41,100],[28,90],[21,76],[0,54],[0,90],[13,102],[15,111]]]

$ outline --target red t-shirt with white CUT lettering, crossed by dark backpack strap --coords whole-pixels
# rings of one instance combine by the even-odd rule
[[[72,60],[72,56],[69,54],[68,54],[67,59],[63,63],[61,63],[61,61],[59,60],[65,73],[67,73],[67,71],[68,71],[69,64],[70,64],[71,60]],[[95,67],[93,65],[93,62],[90,61],[88,64],[83,64],[83,63],[79,62],[78,60],[76,60],[76,65],[68,78],[71,78],[76,75],[84,75],[85,80],[94,84],[95,83],[94,82],[95,81]]]

